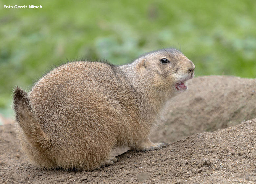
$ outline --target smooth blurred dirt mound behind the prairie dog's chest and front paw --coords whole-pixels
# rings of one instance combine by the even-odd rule
[[[256,118],[256,79],[194,78],[186,92],[170,101],[164,117],[151,136],[153,142],[173,142]]]

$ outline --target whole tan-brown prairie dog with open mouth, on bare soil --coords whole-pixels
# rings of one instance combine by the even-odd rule
[[[17,133],[39,168],[92,170],[113,164],[119,146],[138,151],[166,147],[149,133],[168,99],[187,89],[194,64],[163,49],[114,66],[77,61],[43,76],[26,93],[14,91]]]

